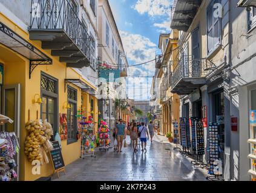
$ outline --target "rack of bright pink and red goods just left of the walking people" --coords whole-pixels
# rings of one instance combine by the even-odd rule
[[[99,150],[108,151],[110,148],[110,142],[110,128],[108,127],[107,122],[100,119],[96,144],[98,145]]]

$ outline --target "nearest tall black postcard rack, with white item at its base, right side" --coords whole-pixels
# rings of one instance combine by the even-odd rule
[[[216,164],[220,161],[218,152],[218,131],[220,130],[220,124],[209,123],[209,153],[210,153],[210,168],[208,174],[210,176],[206,179],[211,181],[223,181],[222,178],[222,165]],[[221,161],[220,161],[221,162]]]

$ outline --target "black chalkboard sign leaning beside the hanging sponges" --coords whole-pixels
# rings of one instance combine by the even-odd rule
[[[51,151],[51,159],[53,160],[54,169],[61,169],[65,167],[64,160],[61,153],[61,147],[59,147],[59,142],[54,141],[53,150]]]

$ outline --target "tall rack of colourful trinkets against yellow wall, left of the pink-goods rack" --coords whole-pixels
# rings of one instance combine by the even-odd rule
[[[96,136],[94,134],[93,116],[88,116],[88,121],[86,121],[87,117],[84,115],[85,110],[78,111],[77,139],[81,139],[80,158],[82,159],[88,156],[96,157],[94,154]]]

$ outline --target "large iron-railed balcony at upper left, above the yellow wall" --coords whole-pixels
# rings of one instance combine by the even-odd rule
[[[90,66],[91,38],[68,0],[31,0],[29,32],[67,67]]]

